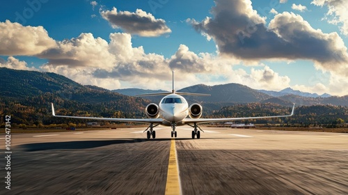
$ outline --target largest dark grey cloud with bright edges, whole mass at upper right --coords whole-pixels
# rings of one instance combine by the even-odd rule
[[[242,59],[310,59],[317,68],[348,76],[347,47],[338,33],[323,33],[301,15],[280,13],[269,26],[253,10],[250,0],[216,0],[216,6],[202,22],[193,27],[213,38],[219,54]]]

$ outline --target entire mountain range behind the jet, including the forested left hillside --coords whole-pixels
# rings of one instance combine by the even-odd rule
[[[11,114],[13,116],[11,121],[17,124],[81,123],[75,119],[52,118],[50,102],[54,102],[56,113],[61,115],[142,118],[146,117],[145,107],[150,102],[158,103],[163,97],[138,98],[133,96],[142,93],[164,92],[139,88],[109,91],[97,86],[84,86],[52,72],[0,68],[0,75],[0,114]],[[292,106],[293,102],[298,106],[320,104],[348,106],[348,95],[313,98],[287,93],[283,96],[272,96],[242,84],[216,86],[199,84],[178,91],[211,94],[211,96],[205,97],[185,97],[189,104],[193,102],[202,104],[204,116],[221,114],[221,109],[231,106],[245,105],[245,110],[252,109],[255,107],[252,105],[255,102],[258,105],[274,105],[275,108],[280,105],[285,108],[285,111]],[[269,107],[269,114],[273,114],[272,110],[276,109]],[[345,111],[335,112],[345,116]],[[3,118],[0,119],[0,122],[3,123]]]

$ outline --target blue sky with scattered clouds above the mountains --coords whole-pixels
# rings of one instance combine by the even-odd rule
[[[2,4],[3,67],[56,72],[109,89],[170,90],[175,70],[177,88],[235,82],[348,94],[343,0]]]

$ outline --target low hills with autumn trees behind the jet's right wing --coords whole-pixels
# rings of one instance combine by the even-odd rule
[[[235,104],[223,107],[209,117],[245,117],[289,115],[291,107],[273,103]],[[335,125],[348,121],[348,107],[333,105],[315,105],[295,107],[294,116],[288,118],[248,120],[246,123],[290,123],[303,125]]]

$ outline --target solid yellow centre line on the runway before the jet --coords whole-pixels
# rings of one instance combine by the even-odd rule
[[[171,152],[169,153],[168,173],[165,194],[182,194],[179,166],[177,165],[177,153],[175,148],[175,139],[171,140]]]

